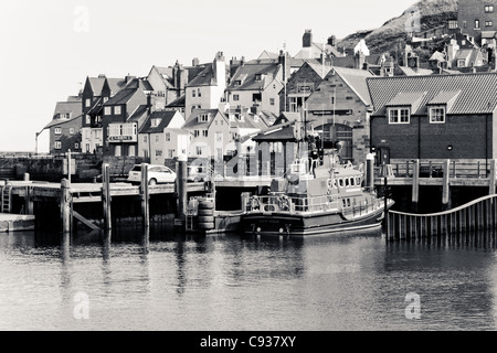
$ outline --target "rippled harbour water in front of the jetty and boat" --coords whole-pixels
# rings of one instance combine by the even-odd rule
[[[0,330],[495,330],[493,236],[1,234]]]

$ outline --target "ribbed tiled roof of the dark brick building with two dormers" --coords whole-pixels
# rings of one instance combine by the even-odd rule
[[[497,106],[497,73],[459,75],[373,77],[367,79],[373,116],[384,116],[385,105],[400,93],[416,96],[426,93],[420,109],[412,114],[424,114],[426,104],[448,97],[442,92],[461,93],[455,97],[451,114],[491,114]]]

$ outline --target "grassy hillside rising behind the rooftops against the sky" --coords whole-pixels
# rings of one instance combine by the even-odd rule
[[[411,11],[420,14],[421,32],[441,25],[446,25],[448,19],[457,18],[457,0],[422,0],[406,9],[400,17],[387,21],[381,28],[368,31],[358,31],[338,42],[340,49],[353,49],[363,39],[370,52],[394,52],[399,42],[406,39],[408,20],[412,18]]]

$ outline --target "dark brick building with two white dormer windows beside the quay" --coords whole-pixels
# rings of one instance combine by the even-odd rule
[[[497,158],[497,73],[374,77],[367,83],[378,163]]]

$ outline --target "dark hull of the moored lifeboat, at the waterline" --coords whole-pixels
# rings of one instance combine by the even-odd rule
[[[316,214],[247,213],[242,216],[241,226],[245,234],[278,236],[331,235],[380,228],[383,215],[383,208],[378,208],[351,220],[336,212]]]

